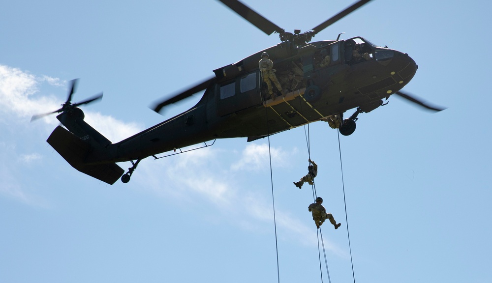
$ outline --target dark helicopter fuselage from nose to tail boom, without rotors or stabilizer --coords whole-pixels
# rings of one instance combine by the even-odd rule
[[[359,44],[361,56],[354,57]],[[297,89],[269,96],[258,60],[268,52],[282,84],[289,72]],[[330,56],[328,65],[321,66]],[[361,37],[318,41],[303,47],[280,43],[215,70],[215,79],[191,109],[121,142],[107,144],[108,155],[89,155],[88,163],[143,159],[214,139],[246,137],[248,141],[341,116],[359,108],[368,113],[383,104],[415,75],[407,54],[377,47]]]

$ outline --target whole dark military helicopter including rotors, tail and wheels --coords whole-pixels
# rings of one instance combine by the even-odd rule
[[[320,120],[338,128],[342,135],[350,135],[359,113],[378,108],[383,98],[392,94],[441,110],[400,91],[417,71],[417,64],[407,54],[362,37],[339,40],[338,35],[337,40],[310,42],[322,29],[370,0],[360,0],[304,33],[285,32],[238,0],[220,1],[268,35],[277,32],[281,42],[218,68],[213,78],[156,104],[154,111],[159,112],[205,90],[191,109],[117,143],[87,124],[77,107],[100,99],[102,94],[72,104],[76,83],[72,81],[67,101],[52,112],[60,113],[57,118],[68,131],[58,126],[47,142],[75,169],[108,184],[120,177],[127,183],[142,159],[215,139],[246,137],[249,142]],[[270,95],[258,66],[264,52],[273,60],[279,81],[292,72],[299,79],[297,87]],[[343,119],[350,109],[356,109],[355,113]],[[116,164],[125,161],[133,165],[126,173]]]

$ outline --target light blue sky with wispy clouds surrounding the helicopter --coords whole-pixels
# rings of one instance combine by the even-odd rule
[[[46,142],[68,82],[86,121],[112,142],[164,116],[148,107],[278,43],[215,0],[8,1],[0,9],[0,281],[277,282],[268,141],[142,161],[110,186],[71,168]],[[245,0],[288,31],[313,28],[352,1]],[[447,107],[390,97],[340,136],[310,124],[318,196],[342,226],[323,226],[332,282],[492,279],[489,173],[491,4],[373,0],[315,40],[363,36],[419,65],[404,90]],[[351,114],[349,111],[347,114]],[[320,282],[307,206],[303,127],[270,139],[281,282]],[[122,168],[131,166],[120,164]],[[323,262],[323,280],[327,282]]]

